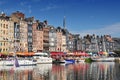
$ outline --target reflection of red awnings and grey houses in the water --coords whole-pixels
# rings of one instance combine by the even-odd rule
[[[114,62],[54,65],[52,80],[120,80],[119,66]]]

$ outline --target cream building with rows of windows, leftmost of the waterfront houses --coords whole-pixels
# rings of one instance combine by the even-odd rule
[[[0,52],[8,54],[14,49],[14,28],[11,18],[5,14],[0,15]]]

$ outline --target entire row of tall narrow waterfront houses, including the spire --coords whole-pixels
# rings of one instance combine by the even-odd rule
[[[72,34],[66,29],[65,17],[63,28],[54,27],[35,20],[34,17],[26,18],[22,12],[14,12],[10,16],[0,14],[0,52],[7,54],[17,52],[57,51],[74,52],[82,51],[113,51],[119,49],[119,40],[110,35]]]

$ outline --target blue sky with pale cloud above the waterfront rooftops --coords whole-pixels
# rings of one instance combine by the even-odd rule
[[[120,37],[120,0],[0,0],[0,12],[20,11],[26,17],[47,20],[73,34]]]

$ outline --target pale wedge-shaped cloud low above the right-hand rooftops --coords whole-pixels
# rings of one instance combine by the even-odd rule
[[[81,36],[85,36],[87,34],[96,34],[96,35],[108,34],[113,37],[120,37],[120,23],[112,24],[98,29],[84,30],[77,33],[79,33]]]

